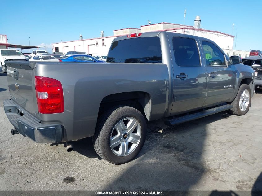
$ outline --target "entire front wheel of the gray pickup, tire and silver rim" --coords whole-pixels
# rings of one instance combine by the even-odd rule
[[[231,113],[234,115],[245,115],[251,104],[251,89],[249,85],[242,84],[238,89],[238,94],[235,97],[234,101],[231,103],[233,109]]]

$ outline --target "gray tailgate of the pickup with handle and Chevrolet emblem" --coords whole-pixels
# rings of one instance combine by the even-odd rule
[[[11,98],[21,108],[38,116],[34,87],[34,67],[36,62],[7,62],[7,82]]]

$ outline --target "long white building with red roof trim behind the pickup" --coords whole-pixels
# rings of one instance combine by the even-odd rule
[[[64,52],[68,51],[84,51],[93,56],[95,55],[107,55],[109,47],[115,37],[128,35],[131,33],[144,33],[150,31],[168,31],[175,33],[184,33],[189,35],[195,35],[200,37],[208,38],[215,41],[223,50],[231,49],[233,50],[234,36],[219,31],[211,31],[202,29],[200,16],[197,16],[194,20],[194,26],[173,24],[173,23],[158,23],[158,24],[148,24],[140,26],[140,28],[125,28],[113,31],[113,36],[103,37],[104,31],[101,32],[100,37],[83,39],[82,34],[79,40],[65,41],[60,43],[52,44],[53,52]],[[239,53],[240,54],[240,53]],[[244,55],[244,54],[242,54]]]

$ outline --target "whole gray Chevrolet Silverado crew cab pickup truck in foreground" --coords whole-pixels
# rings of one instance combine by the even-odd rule
[[[165,121],[172,126],[226,110],[246,114],[255,75],[240,63],[206,38],[135,33],[113,40],[106,63],[7,62],[4,110],[12,134],[67,142],[68,151],[92,136],[100,157],[121,164],[140,152],[147,121],[173,116]]]

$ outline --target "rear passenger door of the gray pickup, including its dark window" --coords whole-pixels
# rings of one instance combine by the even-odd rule
[[[197,40],[173,37],[174,100],[171,115],[202,108],[206,97],[206,68]]]

